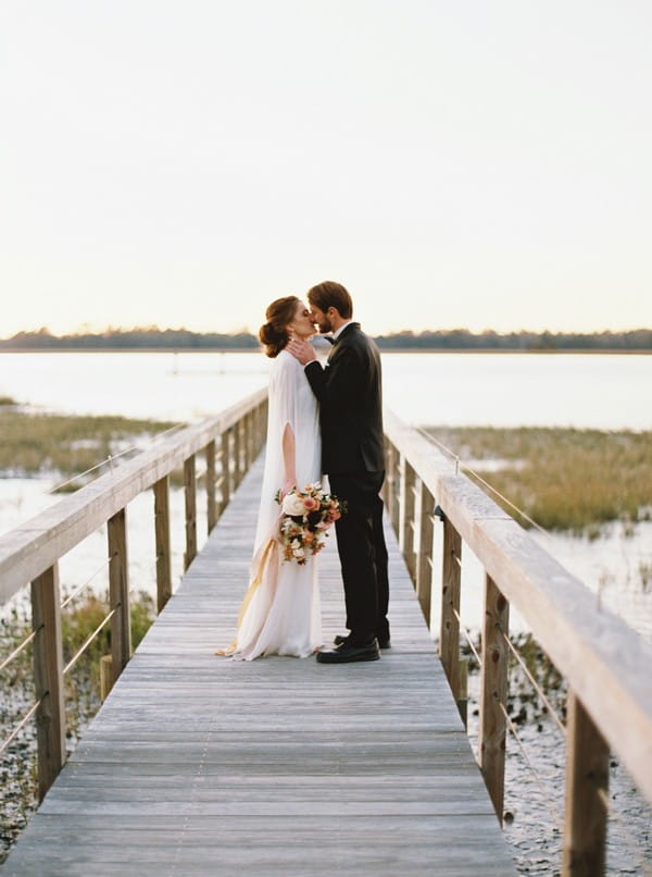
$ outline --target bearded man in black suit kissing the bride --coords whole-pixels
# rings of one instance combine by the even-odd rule
[[[337,547],[347,604],[348,637],[336,649],[317,653],[321,664],[377,660],[389,649],[389,582],[383,534],[385,478],[380,356],[371,338],[352,321],[353,302],[339,283],[325,281],[308,293],[312,319],[321,333],[333,333],[326,368],[306,342],[287,349],[305,367],[319,402],[323,469],[330,490],[346,502],[336,521]]]

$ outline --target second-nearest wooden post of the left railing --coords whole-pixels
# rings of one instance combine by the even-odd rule
[[[109,518],[108,534],[109,602],[111,609],[115,609],[111,619],[111,664],[115,682],[131,656],[127,526],[124,508]]]

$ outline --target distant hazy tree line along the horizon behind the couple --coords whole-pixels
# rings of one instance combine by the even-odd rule
[[[631,332],[509,332],[467,329],[437,332],[397,332],[376,337],[384,350],[652,350],[652,330]],[[0,339],[0,349],[97,350],[97,349],[258,349],[258,338],[249,332],[191,332],[188,329],[109,329],[98,334],[52,335],[48,329],[18,332]]]

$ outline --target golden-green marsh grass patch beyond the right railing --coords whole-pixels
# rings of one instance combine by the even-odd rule
[[[597,536],[610,521],[634,524],[652,518],[651,432],[484,427],[426,431],[462,462],[472,461],[472,469],[475,465],[488,483],[547,530]],[[500,460],[500,467],[482,472],[481,462],[488,460]],[[525,519],[521,522],[529,526]]]

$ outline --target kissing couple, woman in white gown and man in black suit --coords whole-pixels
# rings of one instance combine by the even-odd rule
[[[353,302],[339,283],[273,301],[259,338],[274,359],[265,471],[251,563],[236,638],[217,654],[241,660],[264,655],[308,657],[321,664],[377,660],[389,649],[389,582],[383,533],[385,478],[380,355],[354,323]],[[309,339],[330,334],[325,367]],[[343,514],[335,521],[348,635],[321,651],[317,557],[288,559],[278,502],[328,475]],[[313,489],[314,493],[314,489]],[[313,501],[309,501],[309,507]],[[331,515],[331,518],[336,515]]]

